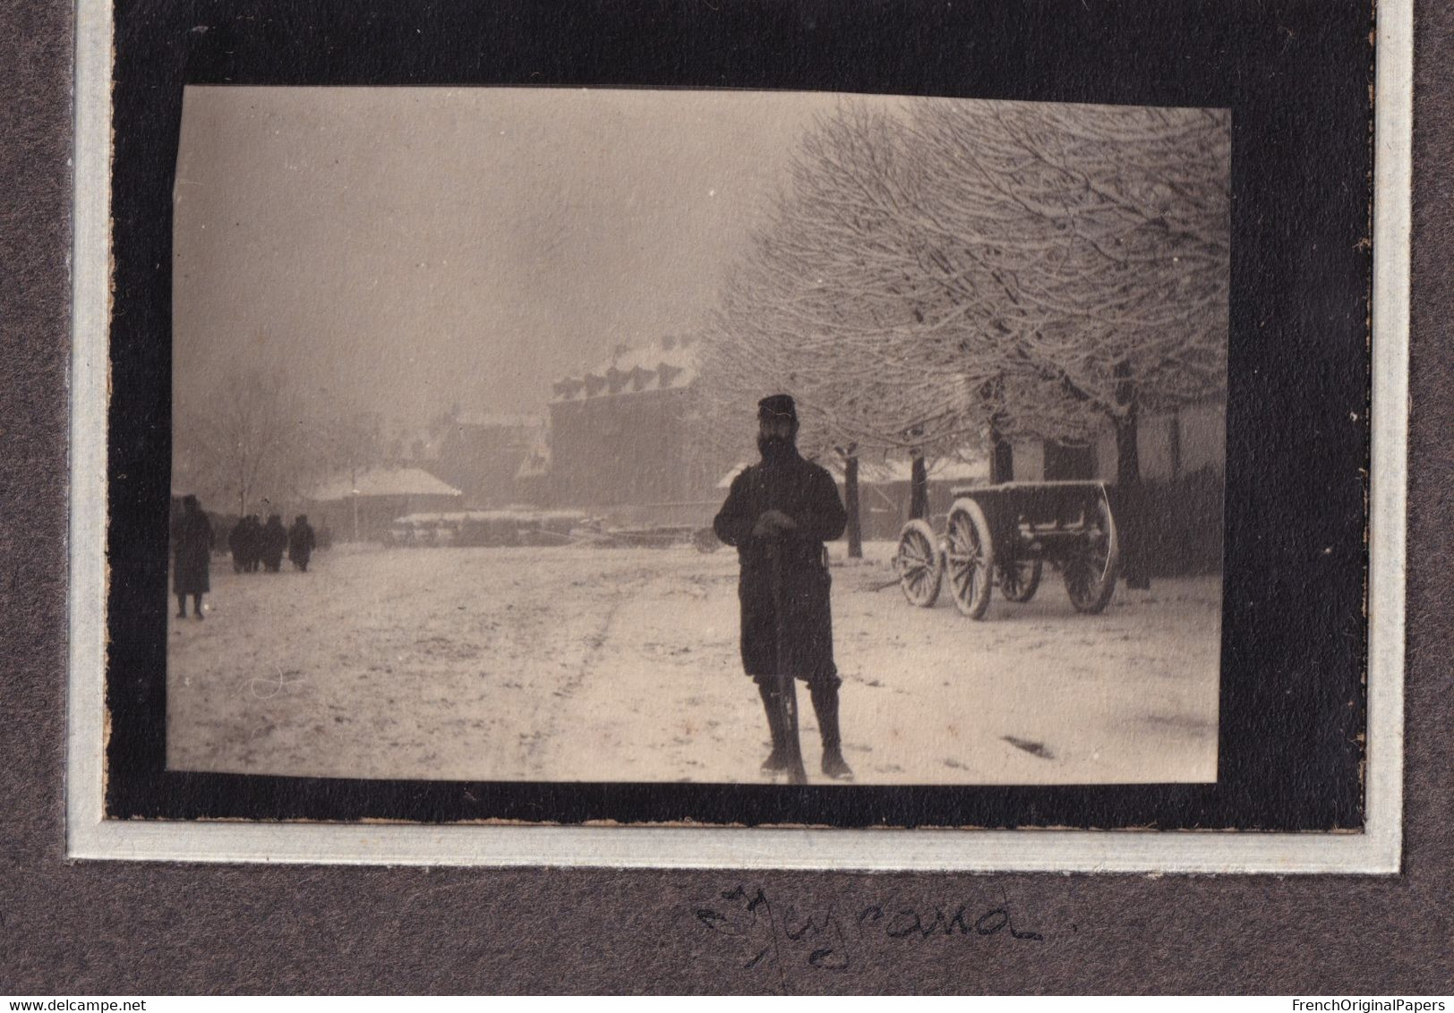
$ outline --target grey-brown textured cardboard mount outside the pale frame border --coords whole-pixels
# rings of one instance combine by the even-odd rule
[[[0,990],[1454,988],[1454,6],[1416,4],[1397,876],[842,875],[64,856],[71,7],[0,0]],[[740,889],[740,892],[739,892]],[[759,898],[752,913],[747,905]]]

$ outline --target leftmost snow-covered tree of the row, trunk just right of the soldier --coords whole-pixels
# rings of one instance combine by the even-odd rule
[[[903,356],[935,292],[903,260],[900,134],[894,115],[853,105],[819,121],[724,289],[702,365],[708,419],[769,390],[794,395],[800,445],[842,462],[851,551],[861,453],[922,458],[983,430],[974,378]]]

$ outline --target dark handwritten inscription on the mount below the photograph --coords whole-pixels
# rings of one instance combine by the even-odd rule
[[[781,910],[779,910],[781,908]],[[845,971],[852,965],[853,948],[874,937],[926,940],[945,936],[997,936],[1043,943],[1045,937],[1016,924],[1009,904],[974,908],[958,905],[919,910],[913,907],[853,907],[846,914],[838,904],[824,911],[800,911],[792,904],[774,905],[768,892],[742,884],[724,889],[710,905],[692,911],[710,932],[742,940],[743,968],[775,966],[787,991],[784,964],[806,961],[819,971]]]

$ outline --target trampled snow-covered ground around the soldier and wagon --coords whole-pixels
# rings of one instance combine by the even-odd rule
[[[1214,780],[1221,583],[1118,589],[1101,616],[1045,571],[984,622],[904,602],[887,542],[832,546],[858,783]],[[307,574],[214,561],[172,619],[169,766],[459,780],[758,782],[737,558],[689,546],[343,545]],[[170,609],[169,609],[170,612]],[[808,775],[817,725],[800,687]]]

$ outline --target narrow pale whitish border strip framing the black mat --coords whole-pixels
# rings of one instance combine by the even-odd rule
[[[1367,823],[1362,833],[480,827],[103,820],[112,7],[79,0],[67,855],[835,871],[1396,873],[1402,852],[1412,0],[1378,4]]]

